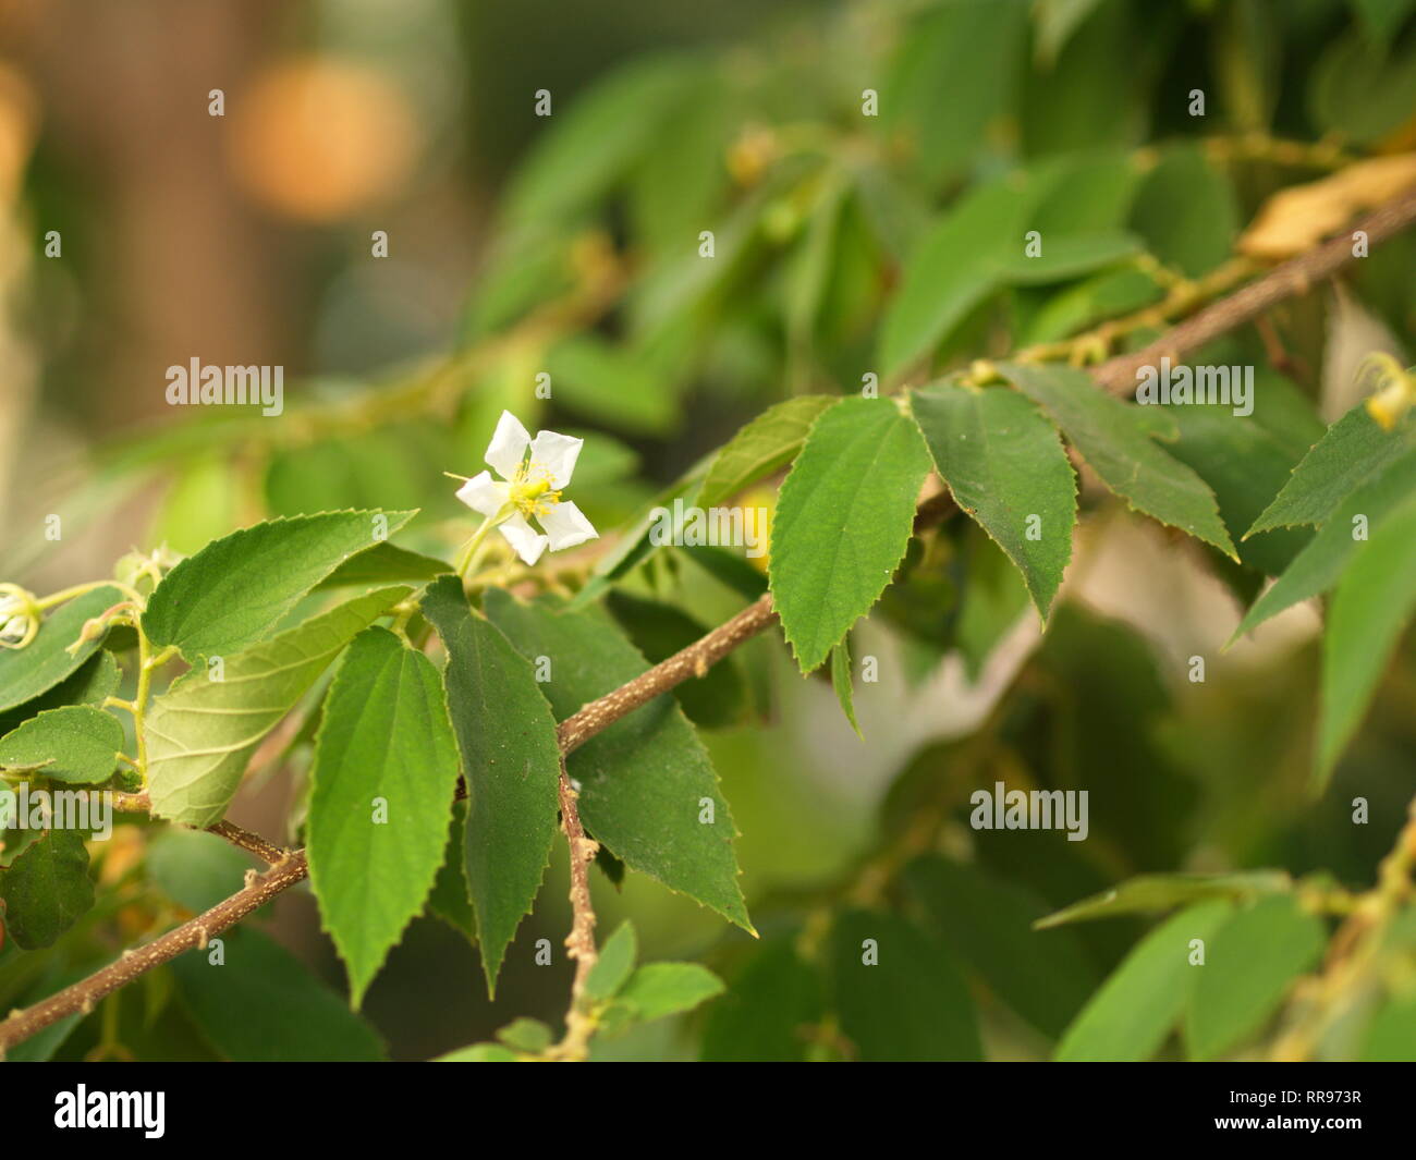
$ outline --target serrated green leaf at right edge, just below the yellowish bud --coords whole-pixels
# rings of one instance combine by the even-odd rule
[[[1321,524],[1362,483],[1410,450],[1410,425],[1382,431],[1366,414],[1366,404],[1359,402],[1303,456],[1293,477],[1253,521],[1245,538],[1269,528]]]

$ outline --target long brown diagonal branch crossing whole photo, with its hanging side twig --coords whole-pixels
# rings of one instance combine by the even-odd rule
[[[1354,228],[1365,229],[1371,242],[1379,242],[1405,229],[1413,221],[1416,221],[1416,190],[1389,201]],[[1277,266],[1257,282],[1245,286],[1229,297],[1221,299],[1205,310],[1201,310],[1188,322],[1171,330],[1164,339],[1151,343],[1144,350],[1104,363],[1095,371],[1096,378],[1110,389],[1130,389],[1137,367],[1158,360],[1164,354],[1182,354],[1223,334],[1226,330],[1242,326],[1277,302],[1301,293],[1315,282],[1328,278],[1334,271],[1351,261],[1351,242],[1348,238],[1335,238],[1325,242],[1317,249]],[[920,528],[920,521],[926,516],[926,511],[930,513],[929,518],[943,518],[952,514],[953,510],[952,500],[937,496],[926,500],[920,506],[920,511],[916,513],[916,531]],[[709,666],[715,664],[745,640],[756,636],[773,619],[776,619],[776,612],[772,609],[772,596],[770,593],[763,595],[731,620],[719,625],[683,652],[656,664],[613,693],[590,701],[559,724],[558,737],[562,756],[571,754],[598,732],[660,694],[668,693],[691,677],[704,676]],[[576,843],[578,840],[589,841],[589,838],[585,837],[585,831],[581,829],[579,812],[575,806],[573,790],[565,780],[564,765],[561,813],[566,836],[572,844],[572,906],[575,909],[576,926],[572,928],[568,945],[585,950],[582,939],[588,939],[590,948],[585,955],[576,956],[576,986],[582,987],[583,973],[589,972],[588,963],[593,965],[595,962],[593,911],[589,909],[588,864],[583,857],[583,847],[578,847]],[[236,829],[231,827],[232,831]],[[579,837],[576,837],[576,831]],[[245,831],[239,833],[245,834]],[[234,840],[232,833],[222,833],[222,837]],[[276,847],[265,843],[263,838],[255,834],[251,834],[249,838],[253,843],[261,843],[268,853],[280,853]],[[259,853],[253,846],[245,846],[244,848]],[[579,858],[573,857],[576,848],[582,851],[582,857]],[[265,854],[261,854],[261,857],[265,857]],[[122,959],[103,967],[96,974],[91,974],[88,979],[65,987],[62,991],[50,996],[33,1007],[16,1011],[0,1023],[0,1055],[67,1016],[76,1011],[91,1011],[93,1004],[101,999],[112,994],[144,972],[169,962],[193,946],[205,945],[208,938],[225,931],[251,914],[251,911],[275,898],[280,891],[302,881],[307,874],[309,867],[304,861],[304,851],[292,851],[272,865],[270,870],[256,875],[249,885],[231,895],[225,902],[212,906],[205,914],[170,931],[147,946],[125,953]],[[579,881],[576,875],[579,875]],[[583,895],[579,892],[582,887],[585,889]],[[571,1038],[569,1033],[573,1033],[573,1028],[568,1027],[568,1040]]]

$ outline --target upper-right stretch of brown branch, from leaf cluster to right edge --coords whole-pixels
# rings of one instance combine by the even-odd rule
[[[1161,358],[1180,361],[1187,351],[1243,326],[1280,302],[1307,293],[1318,282],[1331,278],[1338,269],[1355,259],[1352,232],[1365,231],[1369,245],[1375,245],[1402,232],[1413,222],[1416,222],[1416,188],[1392,198],[1344,234],[1323,242],[1307,254],[1289,259],[1243,289],[1206,306],[1180,326],[1165,331],[1150,346],[1103,363],[1092,375],[1104,389],[1126,394],[1134,389],[1136,373],[1141,367],[1154,365]]]

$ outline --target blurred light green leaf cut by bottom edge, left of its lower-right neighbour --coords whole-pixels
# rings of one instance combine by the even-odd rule
[[[1191,939],[1209,940],[1233,912],[1201,902],[1151,931],[1092,996],[1052,1057],[1059,1062],[1141,1062],[1165,1041],[1191,989]]]

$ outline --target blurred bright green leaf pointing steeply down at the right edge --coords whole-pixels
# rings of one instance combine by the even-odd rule
[[[1332,593],[1323,635],[1317,780],[1327,782],[1416,612],[1416,496],[1382,523]]]

